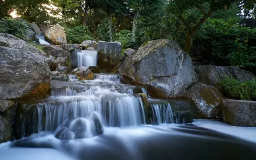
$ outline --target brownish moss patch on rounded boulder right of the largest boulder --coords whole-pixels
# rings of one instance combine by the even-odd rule
[[[218,90],[213,90],[213,88],[204,87],[202,90],[200,90],[200,95],[207,104],[215,105],[216,101],[219,101],[218,97],[215,95],[216,91],[219,92]]]

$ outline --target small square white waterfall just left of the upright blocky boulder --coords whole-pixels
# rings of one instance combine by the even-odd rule
[[[80,50],[77,52],[77,67],[96,66],[98,53],[96,50]]]

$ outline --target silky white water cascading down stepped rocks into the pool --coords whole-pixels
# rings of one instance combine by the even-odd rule
[[[79,52],[79,66],[96,65],[96,54]],[[20,104],[17,132],[22,138],[1,144],[0,159],[256,158],[256,140],[211,130],[201,121],[186,124],[189,111],[177,105],[186,102],[148,99],[147,110],[138,94],[148,97],[147,87],[122,84],[121,75],[69,79],[52,81],[51,97]],[[221,125],[232,130],[223,122],[215,124]],[[256,135],[255,129],[250,132]]]

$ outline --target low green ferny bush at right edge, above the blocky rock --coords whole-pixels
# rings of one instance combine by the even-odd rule
[[[217,87],[226,97],[241,100],[256,100],[256,79],[239,82],[237,79],[226,77]]]

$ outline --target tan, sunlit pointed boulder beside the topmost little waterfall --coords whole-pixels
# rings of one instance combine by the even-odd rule
[[[48,30],[45,31],[45,36],[49,41],[53,42],[54,44],[67,44],[66,34],[62,26],[60,26],[59,24],[48,28]]]

